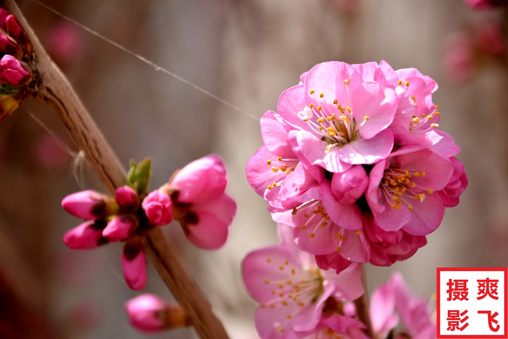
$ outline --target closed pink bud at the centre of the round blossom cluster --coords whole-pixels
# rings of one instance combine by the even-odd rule
[[[369,183],[369,177],[362,166],[353,166],[343,173],[332,177],[332,193],[344,205],[350,205],[360,198]]]

